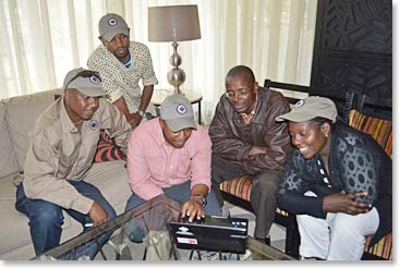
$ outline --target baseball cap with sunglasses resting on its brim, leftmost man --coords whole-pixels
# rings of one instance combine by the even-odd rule
[[[105,96],[99,74],[94,71],[77,68],[68,72],[64,78],[64,88],[76,88],[89,97]]]

